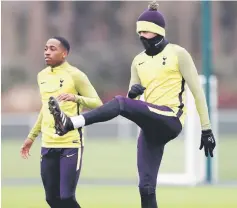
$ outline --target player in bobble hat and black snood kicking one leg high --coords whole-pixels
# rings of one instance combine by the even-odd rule
[[[149,4],[137,20],[137,33],[145,47],[131,66],[128,98],[116,96],[103,106],[76,117],[69,117],[51,97],[49,106],[60,135],[108,121],[121,115],[141,127],[137,166],[142,208],[157,208],[156,183],[164,145],[176,138],[186,114],[185,84],[195,98],[202,136],[200,149],[213,156],[215,139],[209,121],[205,95],[191,55],[165,38],[165,20],[156,2]],[[144,102],[137,100],[144,93]]]

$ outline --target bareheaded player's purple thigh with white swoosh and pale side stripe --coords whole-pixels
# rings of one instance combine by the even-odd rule
[[[65,148],[60,159],[60,197],[69,198],[75,195],[81,172],[84,148]]]

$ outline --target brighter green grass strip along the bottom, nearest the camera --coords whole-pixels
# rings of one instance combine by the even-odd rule
[[[160,187],[161,208],[236,208],[237,188]],[[136,187],[78,186],[77,198],[83,208],[139,208]],[[47,208],[39,186],[3,187],[2,208]]]

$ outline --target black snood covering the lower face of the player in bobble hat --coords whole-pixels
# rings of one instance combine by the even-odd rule
[[[161,35],[157,35],[153,38],[147,39],[145,37],[140,37],[140,40],[146,49],[146,54],[148,56],[155,56],[160,53],[165,46],[168,44],[168,41]]]

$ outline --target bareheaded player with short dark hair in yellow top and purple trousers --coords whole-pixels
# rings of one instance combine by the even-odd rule
[[[69,50],[70,45],[63,37],[50,38],[45,45],[47,67],[38,73],[42,108],[21,148],[22,157],[27,158],[32,143],[42,132],[41,177],[46,201],[51,208],[80,207],[75,199],[75,190],[84,138],[82,129],[64,136],[56,134],[48,100],[51,96],[57,97],[60,108],[68,116],[79,115],[83,107],[92,109],[102,105],[87,76],[66,61]]]

